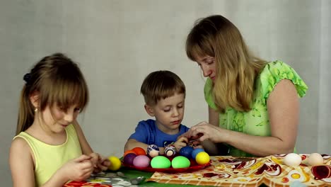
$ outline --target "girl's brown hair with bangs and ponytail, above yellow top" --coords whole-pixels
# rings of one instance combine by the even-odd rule
[[[35,119],[30,96],[38,94],[37,111],[47,106],[61,106],[64,111],[73,105],[81,111],[88,103],[88,86],[75,62],[61,53],[42,58],[28,74],[21,91],[16,135],[27,130]]]

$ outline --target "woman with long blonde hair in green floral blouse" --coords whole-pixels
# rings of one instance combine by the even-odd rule
[[[223,143],[236,157],[294,152],[298,97],[308,89],[294,69],[252,55],[238,28],[219,15],[194,24],[186,53],[207,77],[209,122],[194,125],[185,136]]]

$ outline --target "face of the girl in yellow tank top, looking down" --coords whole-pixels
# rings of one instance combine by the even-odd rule
[[[40,119],[40,122],[45,122],[47,131],[52,133],[63,132],[68,125],[76,120],[79,111],[80,108],[76,106],[71,106],[67,110],[57,105],[52,108],[47,106],[45,111],[42,111],[43,120]]]

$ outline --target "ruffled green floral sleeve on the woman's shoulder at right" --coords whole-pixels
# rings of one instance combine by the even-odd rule
[[[264,102],[267,101],[269,94],[274,90],[281,79],[289,79],[296,86],[298,96],[303,97],[306,94],[308,86],[303,82],[296,71],[288,64],[279,60],[270,62],[265,66],[265,69],[260,74],[261,80],[261,96]]]

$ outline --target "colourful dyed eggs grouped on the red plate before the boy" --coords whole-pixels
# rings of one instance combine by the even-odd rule
[[[156,145],[149,145],[147,152],[141,147],[124,152],[123,162],[125,165],[141,168],[151,166],[154,169],[168,169],[172,166],[174,169],[180,169],[190,167],[192,160],[197,164],[207,164],[210,158],[209,154],[201,148],[182,147],[178,155],[175,147],[168,145],[164,149],[164,154],[161,155]]]

